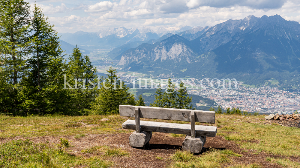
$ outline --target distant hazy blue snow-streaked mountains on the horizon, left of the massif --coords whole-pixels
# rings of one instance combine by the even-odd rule
[[[197,31],[202,27],[178,26],[158,27],[153,31],[149,27],[126,29],[125,27],[110,27],[98,32],[59,33],[60,39],[72,45],[85,46],[87,49],[114,49],[123,44],[137,41],[157,40],[169,33],[177,34],[184,31]],[[138,42],[137,42],[138,43]],[[136,46],[137,47],[137,46]]]

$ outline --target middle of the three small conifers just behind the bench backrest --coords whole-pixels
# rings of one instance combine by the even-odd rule
[[[166,108],[176,108],[176,90],[175,84],[172,83],[171,78],[168,80],[167,90],[163,94],[164,107]]]

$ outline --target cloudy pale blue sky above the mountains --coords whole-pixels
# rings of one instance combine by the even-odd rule
[[[35,0],[28,1],[33,6]],[[300,0],[36,0],[59,33],[124,26],[214,26],[249,15],[300,22]]]

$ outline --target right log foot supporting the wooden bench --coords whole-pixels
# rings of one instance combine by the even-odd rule
[[[196,136],[195,138],[191,138],[190,135],[187,135],[184,141],[182,142],[182,149],[188,150],[192,153],[199,153],[201,152],[205,141],[205,136]]]

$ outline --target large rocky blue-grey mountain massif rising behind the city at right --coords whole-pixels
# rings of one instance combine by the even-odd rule
[[[300,80],[300,24],[279,15],[229,19],[194,27],[122,51],[119,66],[175,77],[236,78],[259,84],[275,78],[287,87]],[[187,69],[185,71],[181,71]]]

